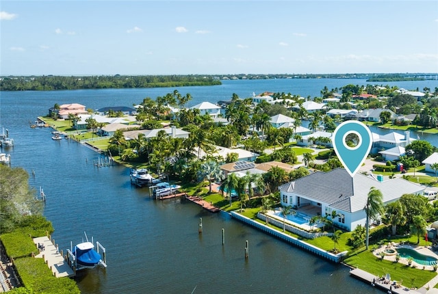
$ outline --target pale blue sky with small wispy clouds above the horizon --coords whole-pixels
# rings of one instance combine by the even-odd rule
[[[0,75],[438,72],[438,1],[1,1]]]

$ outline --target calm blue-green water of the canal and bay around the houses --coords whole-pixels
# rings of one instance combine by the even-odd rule
[[[178,90],[192,94],[190,105],[195,105],[229,99],[233,93],[318,96],[324,85],[331,89],[359,81],[225,81],[220,86]],[[399,87],[437,85],[426,81]],[[70,248],[70,241],[82,241],[86,230],[89,239],[93,236],[107,248],[107,269],[78,275],[82,293],[381,293],[350,278],[346,267],[248,228],[225,213],[207,213],[184,200],[152,200],[147,188],[131,187],[127,168],[94,168],[92,162],[99,155],[92,150],[68,140],[53,141],[50,129],[29,128],[29,121],[55,103],[81,103],[92,109],[129,106],[173,90],[0,92],[0,126],[15,141],[14,148],[2,152],[11,154],[12,166],[29,174],[34,170],[29,182],[47,194],[44,215],[53,222],[56,243],[61,249]],[[200,217],[202,235],[198,234]],[[248,260],[244,259],[246,240]]]

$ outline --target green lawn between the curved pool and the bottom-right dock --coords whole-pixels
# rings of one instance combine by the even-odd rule
[[[389,260],[382,260],[372,254],[370,250],[359,252],[344,260],[345,263],[364,271],[368,271],[376,276],[384,276],[389,273],[391,280],[402,282],[403,286],[414,286],[420,288],[429,280],[437,276],[435,271],[415,269],[402,263],[395,263]]]

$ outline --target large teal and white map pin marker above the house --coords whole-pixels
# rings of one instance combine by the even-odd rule
[[[346,138],[350,134],[357,135],[359,142],[356,142],[356,146],[347,145]],[[352,137],[355,137],[354,135]],[[333,132],[332,142],[339,161],[351,177],[355,176],[371,150],[372,134],[370,129],[357,120],[347,120],[337,126]]]

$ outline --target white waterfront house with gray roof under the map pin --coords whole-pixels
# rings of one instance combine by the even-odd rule
[[[421,195],[424,187],[404,178],[377,181],[372,176],[355,174],[352,178],[344,168],[330,172],[314,172],[279,187],[283,206],[293,206],[299,211],[303,206],[320,209],[318,215],[331,215],[336,211],[339,217],[333,219],[336,226],[355,230],[365,226],[365,203],[371,187],[383,194],[383,204],[398,200],[405,193]],[[422,197],[422,196],[421,196]]]

